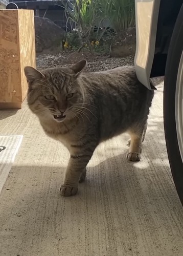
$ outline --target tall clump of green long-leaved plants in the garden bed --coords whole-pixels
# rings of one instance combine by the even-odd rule
[[[87,44],[92,52],[91,40],[101,42],[107,32],[107,28],[100,29],[104,19],[109,20],[117,32],[135,26],[134,0],[68,0],[62,1],[62,5],[68,15],[67,21],[76,24],[75,32],[78,34],[77,38],[76,34],[69,34],[67,41],[78,51]],[[94,33],[95,26],[98,30]]]

